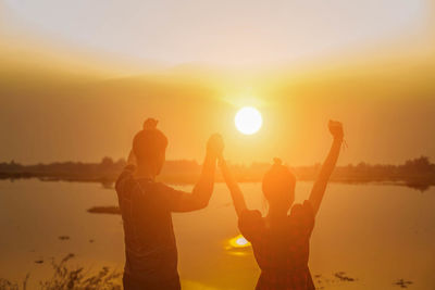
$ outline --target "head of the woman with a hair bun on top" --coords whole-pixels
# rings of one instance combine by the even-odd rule
[[[295,201],[295,175],[287,166],[282,165],[279,159],[263,177],[263,193],[271,207],[275,211],[287,212]]]

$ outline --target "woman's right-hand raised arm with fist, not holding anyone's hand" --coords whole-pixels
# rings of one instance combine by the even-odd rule
[[[330,121],[330,131],[334,137],[333,144],[325,162],[322,165],[318,179],[315,180],[310,194],[310,203],[314,210],[314,214],[318,213],[320,204],[322,203],[323,196],[326,190],[327,181],[330,180],[331,174],[335,168],[337,159],[340,152],[343,142],[343,125],[339,122]]]

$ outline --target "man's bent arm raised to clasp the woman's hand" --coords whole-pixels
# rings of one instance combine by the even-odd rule
[[[210,137],[199,181],[191,193],[182,194],[179,202],[173,209],[174,212],[191,212],[201,210],[209,204],[214,187],[216,160],[217,155],[222,154],[223,147],[224,144],[220,135],[215,134]]]

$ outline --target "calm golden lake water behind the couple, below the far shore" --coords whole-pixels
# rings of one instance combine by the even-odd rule
[[[296,199],[312,184],[299,182]],[[191,186],[177,188],[190,190]],[[244,184],[248,205],[264,210],[260,184]],[[71,266],[122,270],[121,216],[87,213],[116,205],[99,184],[0,181],[0,278],[30,286],[52,274],[50,259],[76,255]],[[253,289],[259,269],[250,248],[235,249],[237,222],[228,191],[215,186],[207,209],[174,214],[184,289]],[[67,236],[69,239],[60,239]],[[41,264],[35,261],[44,261]],[[435,188],[331,184],[311,238],[310,263],[318,288],[435,289]],[[346,281],[335,274],[356,279]],[[340,275],[338,275],[340,276]]]

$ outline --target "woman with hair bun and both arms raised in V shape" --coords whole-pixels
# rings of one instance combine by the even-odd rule
[[[341,123],[330,121],[328,127],[334,141],[309,200],[293,205],[296,178],[279,159],[274,159],[262,182],[263,194],[269,203],[269,212],[264,217],[260,211],[247,209],[240,188],[224,159],[220,157],[220,167],[238,216],[238,227],[241,235],[251,242],[261,268],[256,289],[314,289],[308,268],[309,242],[344,137]]]

